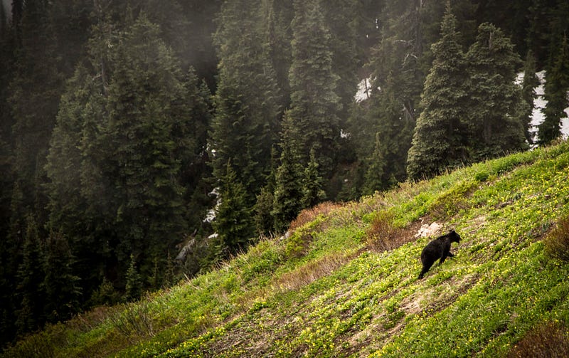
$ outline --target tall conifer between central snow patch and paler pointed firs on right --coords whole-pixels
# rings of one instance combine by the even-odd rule
[[[376,170],[363,173],[363,194],[406,178],[407,153],[424,80],[421,10],[422,2],[385,1],[377,19],[381,41],[367,64],[372,90],[366,116],[373,126],[366,128],[365,141],[371,149],[361,157],[363,165]]]

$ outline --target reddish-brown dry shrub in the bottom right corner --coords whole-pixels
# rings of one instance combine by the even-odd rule
[[[569,330],[565,325],[548,322],[526,333],[508,354],[511,358],[569,357]]]

